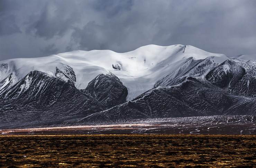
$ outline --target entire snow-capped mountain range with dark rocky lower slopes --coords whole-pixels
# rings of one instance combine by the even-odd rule
[[[191,45],[0,61],[0,128],[256,115],[256,55]]]

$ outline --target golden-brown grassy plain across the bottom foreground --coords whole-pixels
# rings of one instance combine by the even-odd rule
[[[254,167],[253,135],[3,135],[0,167]]]

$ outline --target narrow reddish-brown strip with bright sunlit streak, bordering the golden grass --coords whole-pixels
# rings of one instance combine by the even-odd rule
[[[222,134],[256,135],[255,124],[109,124],[3,129],[0,134]]]

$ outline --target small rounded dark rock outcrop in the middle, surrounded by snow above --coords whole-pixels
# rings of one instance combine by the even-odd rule
[[[82,90],[97,99],[103,106],[110,108],[126,101],[127,88],[112,74],[99,74]]]

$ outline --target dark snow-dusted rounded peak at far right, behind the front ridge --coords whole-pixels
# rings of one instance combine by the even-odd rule
[[[241,96],[256,97],[255,61],[227,60],[214,67],[205,79]]]

